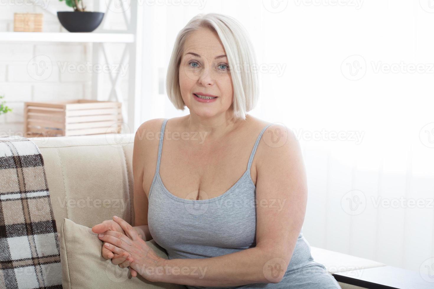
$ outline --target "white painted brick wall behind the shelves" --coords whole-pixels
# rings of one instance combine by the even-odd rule
[[[38,1],[37,1],[38,2]],[[64,2],[39,0],[48,3],[48,9],[27,5],[30,1],[0,1],[0,32],[13,31],[13,13],[43,13],[43,32],[67,32],[50,13],[72,11]],[[93,11],[91,0],[86,1],[88,11]],[[100,10],[102,11],[102,10]],[[118,19],[110,20],[109,26],[122,23],[122,14],[115,14]],[[107,25],[106,25],[107,27]],[[17,32],[18,33],[18,32]],[[69,33],[69,32],[67,32]],[[124,44],[105,44],[108,57],[118,63]],[[49,73],[42,74],[44,68],[33,65],[32,58],[44,55],[49,65]],[[39,59],[39,58],[38,58]],[[105,63],[102,63],[102,65]],[[86,68],[87,67],[87,68]],[[90,67],[90,68],[89,68]],[[66,68],[62,72],[62,68]],[[79,70],[84,68],[83,70]],[[90,72],[89,72],[90,70]],[[39,71],[39,75],[38,75]],[[92,98],[92,45],[89,43],[56,42],[1,42],[0,39],[0,95],[4,95],[7,106],[12,112],[0,115],[0,134],[23,135],[23,106],[25,101],[64,101],[71,99]],[[120,90],[128,96],[128,74],[120,76]],[[109,75],[102,77],[103,92],[111,88]],[[107,96],[108,97],[108,96]],[[113,100],[113,99],[112,99]]]

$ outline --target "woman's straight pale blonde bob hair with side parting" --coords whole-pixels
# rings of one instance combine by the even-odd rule
[[[251,69],[256,63],[256,56],[247,30],[230,16],[201,13],[194,16],[178,33],[166,75],[168,97],[176,109],[185,109],[179,86],[179,66],[187,36],[199,28],[217,32],[223,44],[233,84],[233,117],[245,120],[247,112],[256,106],[259,97],[258,76]]]

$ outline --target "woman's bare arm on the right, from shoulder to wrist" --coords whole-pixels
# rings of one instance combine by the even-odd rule
[[[213,258],[164,260],[157,281],[215,287],[282,280],[306,212],[302,153],[293,132],[274,124],[256,156],[256,247]]]

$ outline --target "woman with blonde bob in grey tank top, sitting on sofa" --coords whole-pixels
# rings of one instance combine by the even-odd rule
[[[93,227],[103,233],[105,259],[130,266],[132,276],[189,289],[340,288],[302,234],[299,143],[285,126],[247,114],[258,97],[254,65],[248,34],[232,17],[199,14],[179,32],[167,91],[190,114],[137,130],[139,226],[114,218]],[[152,238],[168,260],[146,245]]]

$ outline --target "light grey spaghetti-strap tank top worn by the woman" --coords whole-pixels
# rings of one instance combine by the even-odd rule
[[[197,191],[194,195],[192,192],[192,199],[179,198],[169,192],[161,180],[161,149],[167,120],[164,119],[161,126],[157,168],[148,200],[148,226],[155,242],[166,250],[169,259],[211,258],[255,247],[256,186],[250,177],[250,167],[261,136],[273,123],[260,132],[250,154],[246,172],[231,188],[215,198],[195,200]],[[319,263],[313,261],[309,243],[301,230],[286,273],[311,264]],[[287,288],[280,287],[283,283],[257,284],[262,284],[260,288]],[[236,288],[253,287],[246,285]]]

